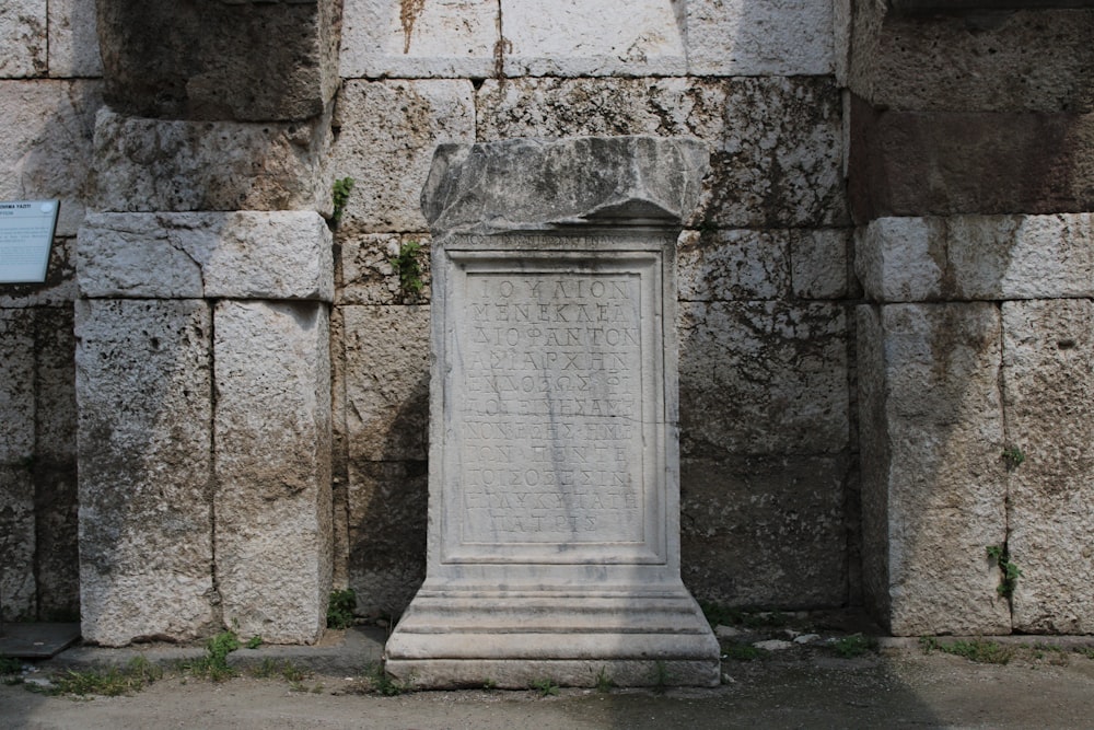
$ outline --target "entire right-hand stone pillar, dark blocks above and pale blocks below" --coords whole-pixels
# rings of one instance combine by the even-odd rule
[[[863,582],[894,634],[1092,629],[1092,31],[856,3]]]

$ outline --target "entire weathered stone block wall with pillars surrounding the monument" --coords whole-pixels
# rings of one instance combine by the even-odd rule
[[[47,283],[0,287],[5,618],[81,582],[104,644],[309,641],[331,587],[399,613],[430,301],[393,259],[428,269],[434,148],[651,134],[712,164],[678,252],[688,588],[1092,630],[1094,12],[209,5],[0,9],[0,198],[61,199]]]

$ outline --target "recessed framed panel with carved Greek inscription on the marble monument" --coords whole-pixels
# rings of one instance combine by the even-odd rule
[[[655,256],[459,258],[450,557],[659,553]]]

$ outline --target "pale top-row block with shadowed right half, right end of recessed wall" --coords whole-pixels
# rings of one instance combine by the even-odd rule
[[[688,0],[688,72],[817,76],[834,70],[833,3]]]

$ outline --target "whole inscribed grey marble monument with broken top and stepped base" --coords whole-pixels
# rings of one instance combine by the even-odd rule
[[[719,683],[679,575],[675,246],[707,162],[654,137],[438,149],[428,565],[396,677]]]

